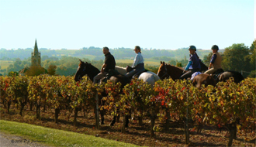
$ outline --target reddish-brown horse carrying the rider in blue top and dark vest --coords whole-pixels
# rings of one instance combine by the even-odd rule
[[[168,77],[171,77],[172,80],[178,80],[179,77],[182,76],[182,73],[183,73],[183,68],[182,67],[175,67],[175,66],[172,66],[170,64],[166,64],[164,62],[160,62],[161,65],[157,71],[157,75],[161,78],[161,80],[163,80],[164,78],[168,78]],[[201,64],[201,69],[200,71],[203,72],[203,71],[206,71],[208,69],[208,67],[206,67],[206,65],[202,62],[200,62]],[[201,74],[199,74],[201,75]],[[197,75],[197,76],[199,76]],[[206,84],[206,85],[216,85],[216,81],[213,79],[213,77],[210,77],[210,75],[208,74],[203,74],[199,77],[195,76],[196,78],[194,78],[193,80],[193,84],[196,86],[196,87],[201,87],[202,84]]]

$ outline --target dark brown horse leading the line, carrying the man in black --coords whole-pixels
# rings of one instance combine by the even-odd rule
[[[75,76],[74,76],[74,80],[75,81],[81,80],[81,78],[83,76],[87,75],[89,77],[89,79],[93,81],[93,77],[98,75],[99,72],[100,72],[99,69],[94,67],[91,63],[83,62],[83,61],[80,60],[78,70],[77,70],[77,72],[75,73]],[[126,76],[123,76],[122,74],[113,75],[112,77],[110,77],[109,80],[112,80],[114,83],[120,82],[121,83],[121,88],[123,88],[126,84],[130,83],[130,79]],[[102,97],[106,97],[106,96],[107,96],[106,91],[102,92]],[[102,102],[101,104],[103,105],[104,103]],[[101,115],[102,124],[104,124],[104,111],[100,111],[100,115]],[[112,122],[111,122],[110,125],[114,125],[115,122],[116,122],[116,115],[112,119]],[[127,127],[128,126],[128,120],[126,120],[126,122],[127,122],[127,124],[126,124],[126,127]]]

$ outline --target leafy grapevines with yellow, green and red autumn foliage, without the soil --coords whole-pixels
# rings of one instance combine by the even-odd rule
[[[255,145],[256,79],[247,78],[240,84],[235,84],[233,79],[230,79],[220,82],[216,87],[202,86],[200,89],[193,87],[187,80],[159,80],[154,88],[143,81],[132,80],[122,90],[121,84],[108,81],[106,84],[97,85],[92,84],[86,77],[79,82],[75,82],[74,77],[47,75],[0,77],[0,81],[2,116],[11,116],[11,111],[19,111],[22,118],[28,111],[35,111],[36,120],[50,121],[50,117],[54,116],[54,123],[60,124],[61,114],[69,114],[68,121],[72,114],[72,124],[78,127],[83,123],[78,119],[79,114],[83,112],[84,116],[89,113],[93,115],[93,128],[104,130],[106,125],[99,125],[99,107],[99,110],[106,111],[108,118],[120,116],[121,120],[116,123],[118,128],[112,131],[124,135],[129,134],[127,132],[130,132],[130,125],[139,130],[146,130],[144,134],[148,135],[148,138],[161,138],[161,132],[164,130],[164,133],[168,134],[166,130],[169,128],[182,128],[184,135],[181,140],[187,145],[192,145],[191,139],[195,138],[195,134],[202,134],[207,126],[211,126],[216,127],[214,132],[227,130],[228,146],[232,145],[235,139],[239,141],[241,136],[243,138],[240,142]],[[107,96],[101,98],[103,92]],[[102,105],[97,101],[104,103]],[[42,115],[46,111],[52,111],[54,115]],[[126,128],[127,117],[137,118],[138,121],[131,121]],[[181,142],[177,141],[176,137],[166,137],[164,140],[168,140],[167,138],[171,138],[172,142]]]

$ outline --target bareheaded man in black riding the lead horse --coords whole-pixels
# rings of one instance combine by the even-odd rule
[[[105,62],[102,65],[100,73],[93,78],[94,84],[96,84],[102,77],[105,77],[109,70],[115,70],[116,61],[114,56],[109,52],[109,48],[103,47],[103,53],[105,55]]]

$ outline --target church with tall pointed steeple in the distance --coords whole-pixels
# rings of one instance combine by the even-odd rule
[[[41,67],[41,53],[38,52],[37,43],[35,42],[34,50],[31,53],[31,67]],[[25,76],[26,72],[30,70],[30,67],[25,67],[22,70],[19,70],[19,75]],[[47,73],[47,70],[44,69],[44,73]]]

